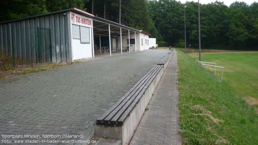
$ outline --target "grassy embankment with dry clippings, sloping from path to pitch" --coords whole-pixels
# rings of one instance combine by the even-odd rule
[[[200,70],[178,51],[180,128],[183,144],[258,144],[258,115],[225,81]]]

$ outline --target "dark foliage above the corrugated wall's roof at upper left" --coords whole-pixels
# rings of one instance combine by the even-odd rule
[[[76,7],[83,9],[88,0],[8,0],[0,1],[0,22],[36,16]]]

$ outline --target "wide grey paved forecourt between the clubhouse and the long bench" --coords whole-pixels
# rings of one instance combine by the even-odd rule
[[[5,144],[15,144],[15,140],[63,140],[59,135],[86,132],[168,52],[150,49],[0,80],[1,140],[2,135],[23,135],[7,137],[3,140],[12,143]],[[41,138],[26,139],[24,135]],[[71,139],[79,138],[66,138]]]

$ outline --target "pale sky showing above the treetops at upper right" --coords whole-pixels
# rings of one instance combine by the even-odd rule
[[[181,3],[185,3],[186,1],[198,2],[198,0],[176,0],[176,1],[180,1]],[[199,0],[199,3],[207,4],[207,3],[211,3],[211,2],[215,2],[215,1],[216,0]],[[221,2],[223,1],[225,5],[229,6],[231,3],[235,2],[236,0],[218,0],[218,1],[221,1]],[[237,0],[237,1],[244,1],[248,5],[251,5],[254,1],[258,2],[258,0]]]

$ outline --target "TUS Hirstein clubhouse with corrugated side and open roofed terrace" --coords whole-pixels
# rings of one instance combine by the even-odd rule
[[[23,61],[70,63],[95,58],[95,47],[149,49],[149,35],[72,8],[1,22],[0,51]]]

